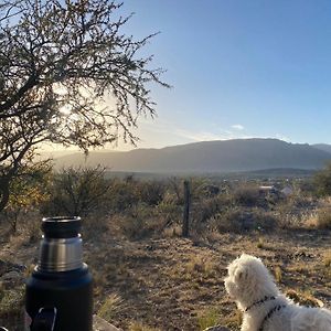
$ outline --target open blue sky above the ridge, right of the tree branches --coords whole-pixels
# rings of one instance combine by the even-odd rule
[[[278,138],[331,143],[330,0],[124,0],[167,89],[140,118],[138,148]],[[132,149],[119,142],[117,150]]]

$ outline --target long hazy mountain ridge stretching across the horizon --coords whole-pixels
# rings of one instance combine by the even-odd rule
[[[202,141],[162,149],[126,152],[74,153],[55,159],[55,167],[103,164],[124,172],[220,173],[260,169],[316,170],[331,160],[331,153],[316,147],[278,139]]]

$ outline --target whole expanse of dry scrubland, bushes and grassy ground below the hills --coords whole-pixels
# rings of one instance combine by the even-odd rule
[[[105,179],[102,168],[71,168],[49,174],[43,185],[18,188],[1,215],[0,321],[22,330],[22,284],[36,264],[41,217],[64,214],[83,217],[95,313],[124,330],[217,323],[238,330],[241,314],[223,278],[243,252],[261,257],[289,296],[330,308],[331,201],[317,192],[318,182],[186,180],[188,238],[181,236],[181,178]],[[32,203],[19,192],[34,192]]]

